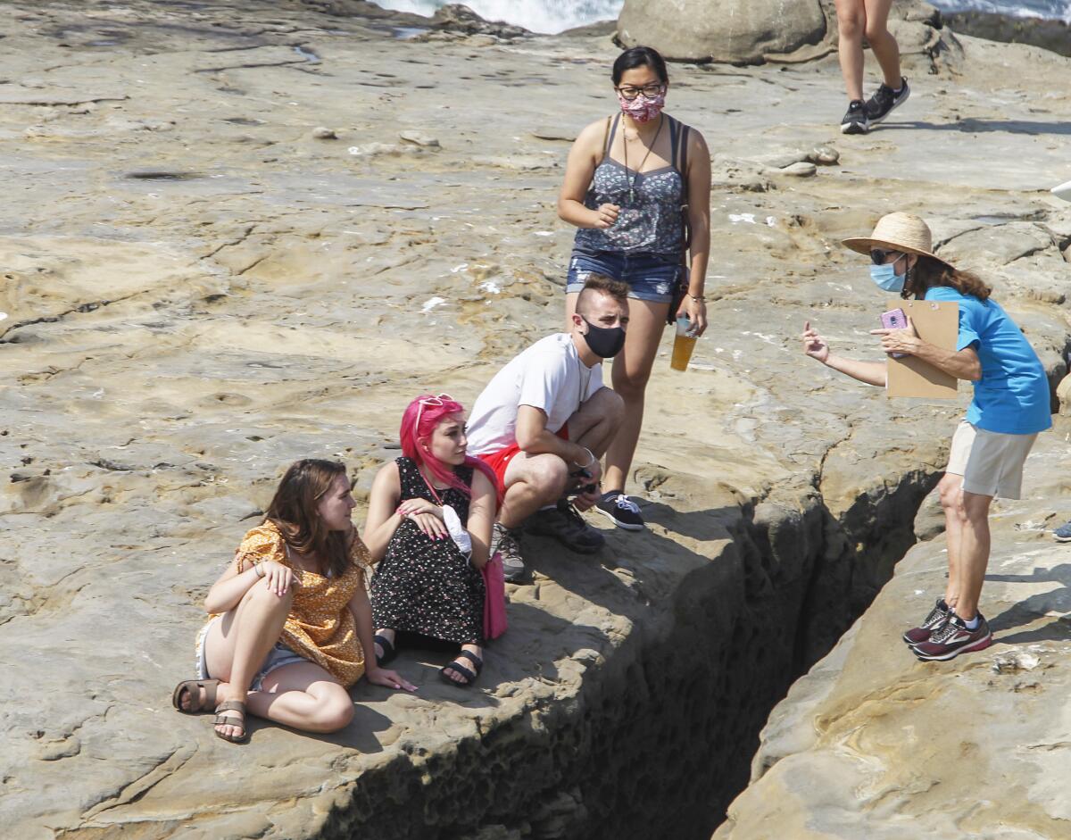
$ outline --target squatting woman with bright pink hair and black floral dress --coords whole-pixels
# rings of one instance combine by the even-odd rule
[[[413,400],[402,416],[403,456],[376,475],[364,542],[373,562],[376,660],[396,654],[398,633],[451,642],[461,651],[440,672],[470,686],[483,668],[485,585],[497,511],[495,476],[466,454],[465,409],[447,394]]]

